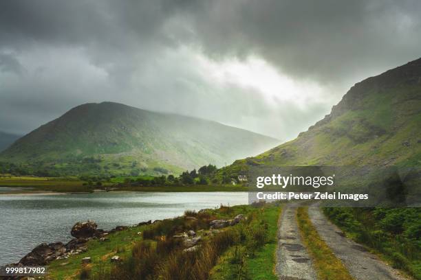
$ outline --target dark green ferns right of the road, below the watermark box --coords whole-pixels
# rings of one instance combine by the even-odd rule
[[[324,212],[353,240],[421,279],[421,209],[325,208]]]

